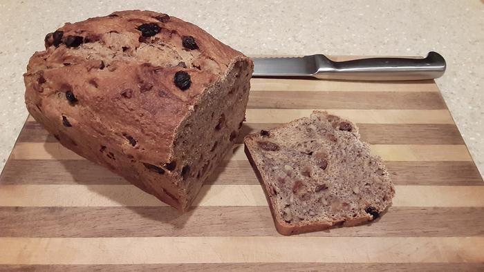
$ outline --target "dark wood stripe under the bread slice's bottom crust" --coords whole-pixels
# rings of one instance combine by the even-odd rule
[[[0,207],[0,237],[279,235],[266,206]],[[465,237],[484,235],[483,207],[391,207],[378,221],[306,236]]]

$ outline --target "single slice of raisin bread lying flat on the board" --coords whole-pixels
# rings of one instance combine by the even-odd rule
[[[244,142],[283,235],[375,220],[395,194],[357,126],[335,115],[314,111]]]

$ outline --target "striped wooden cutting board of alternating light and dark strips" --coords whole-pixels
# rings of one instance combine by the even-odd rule
[[[313,109],[358,124],[396,195],[372,224],[285,237],[242,138]],[[0,177],[0,271],[484,270],[484,183],[434,81],[252,79],[247,120],[179,214],[29,117]]]

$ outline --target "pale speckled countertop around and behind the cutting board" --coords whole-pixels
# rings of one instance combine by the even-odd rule
[[[93,8],[94,7],[94,8]],[[27,116],[28,58],[66,21],[115,10],[156,10],[196,23],[246,55],[425,55],[440,52],[437,79],[484,173],[483,1],[18,1],[0,2],[0,170]]]

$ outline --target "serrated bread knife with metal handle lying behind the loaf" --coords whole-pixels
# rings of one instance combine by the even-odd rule
[[[252,77],[315,77],[357,81],[436,79],[445,72],[445,59],[438,52],[427,57],[373,57],[332,61],[325,55],[254,58]]]

